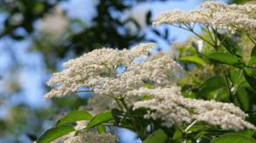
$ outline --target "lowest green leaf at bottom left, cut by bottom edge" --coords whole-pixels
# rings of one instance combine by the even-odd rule
[[[62,135],[68,134],[70,132],[75,131],[73,127],[67,126],[67,125],[61,125],[57,126],[52,129],[48,129],[42,134],[39,139],[37,140],[38,143],[49,143],[52,140],[55,140]]]

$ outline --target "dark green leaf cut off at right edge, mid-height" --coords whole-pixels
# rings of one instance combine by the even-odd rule
[[[243,75],[247,79],[250,86],[256,90],[256,69],[250,67],[243,68]]]

